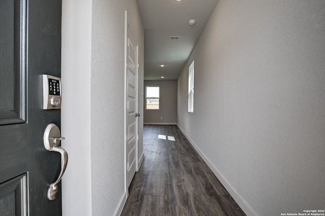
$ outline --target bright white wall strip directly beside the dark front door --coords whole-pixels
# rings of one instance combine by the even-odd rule
[[[67,216],[92,215],[91,4],[62,1],[61,135],[66,139],[61,146],[69,154],[62,178],[62,214]]]

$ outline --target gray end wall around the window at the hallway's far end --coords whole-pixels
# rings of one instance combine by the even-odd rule
[[[159,110],[146,110],[146,86],[160,86]],[[144,124],[177,123],[177,81],[144,81]],[[163,117],[163,119],[160,119]]]

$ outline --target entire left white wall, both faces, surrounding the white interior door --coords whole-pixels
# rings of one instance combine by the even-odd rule
[[[143,78],[144,36],[135,2],[63,1],[61,129],[69,153],[62,179],[63,215],[115,215],[125,202],[126,9],[135,18]],[[140,99],[139,110],[142,104]],[[141,134],[139,140],[141,154]]]

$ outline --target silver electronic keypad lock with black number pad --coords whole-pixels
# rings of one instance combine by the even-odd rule
[[[61,79],[43,75],[43,110],[61,109]]]

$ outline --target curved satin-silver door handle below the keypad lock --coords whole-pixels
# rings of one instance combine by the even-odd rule
[[[58,152],[61,155],[61,171],[56,181],[49,186],[47,190],[47,198],[54,200],[58,193],[57,184],[60,182],[64,171],[66,171],[68,164],[68,153],[62,147],[59,147],[60,141],[65,139],[61,137],[60,129],[53,123],[48,124],[44,131],[43,141],[45,149],[50,152]]]

